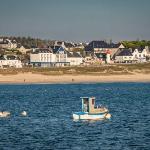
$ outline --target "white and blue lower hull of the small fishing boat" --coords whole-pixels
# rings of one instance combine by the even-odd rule
[[[100,113],[100,114],[89,114],[88,112],[76,112],[76,113],[73,113],[73,119],[74,120],[102,120],[102,119],[109,119],[109,118],[107,118],[107,116],[108,116],[108,113]]]

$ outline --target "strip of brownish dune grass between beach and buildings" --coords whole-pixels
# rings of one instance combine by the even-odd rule
[[[0,69],[2,75],[15,75],[18,73],[34,73],[43,75],[63,75],[63,74],[90,74],[90,75],[112,75],[112,74],[134,74],[150,73],[150,63],[144,64],[114,64],[100,66],[83,67],[55,67],[55,68],[8,68]]]

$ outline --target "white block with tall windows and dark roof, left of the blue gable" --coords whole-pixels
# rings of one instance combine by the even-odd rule
[[[34,49],[30,53],[30,64],[37,67],[55,66],[55,54],[52,49]]]

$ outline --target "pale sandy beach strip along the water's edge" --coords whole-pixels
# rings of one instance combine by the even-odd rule
[[[42,75],[19,73],[0,75],[0,84],[15,83],[101,83],[101,82],[150,82],[149,74],[133,75]]]

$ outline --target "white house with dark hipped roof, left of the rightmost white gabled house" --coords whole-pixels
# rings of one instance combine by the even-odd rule
[[[132,63],[134,61],[135,59],[130,49],[121,49],[120,53],[115,56],[116,63]]]

